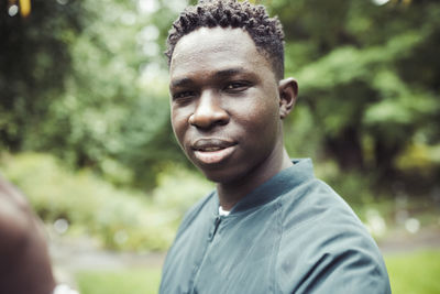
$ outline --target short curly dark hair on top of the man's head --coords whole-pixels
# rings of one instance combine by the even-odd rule
[[[237,0],[200,0],[197,6],[187,7],[173,23],[168,32],[168,66],[177,42],[190,32],[201,28],[241,28],[255,43],[256,48],[273,66],[275,76],[284,76],[284,32],[279,20],[270,18],[263,6]]]

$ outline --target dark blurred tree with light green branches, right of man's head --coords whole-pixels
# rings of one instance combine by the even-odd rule
[[[310,138],[343,171],[384,183],[408,145],[439,144],[438,1],[271,2],[286,32],[286,72],[304,100],[287,126],[307,130],[287,133],[294,152],[310,152]]]

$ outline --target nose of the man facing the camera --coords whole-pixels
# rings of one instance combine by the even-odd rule
[[[223,109],[218,94],[204,91],[199,98],[189,123],[200,129],[223,126],[229,122],[229,113]]]

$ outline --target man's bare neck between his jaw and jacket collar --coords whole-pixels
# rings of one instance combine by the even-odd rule
[[[253,189],[292,165],[293,163],[286,150],[283,148],[283,152],[280,152],[279,155],[270,157],[263,164],[256,166],[244,178],[217,184],[217,193],[221,207],[224,210],[231,210],[238,202]]]

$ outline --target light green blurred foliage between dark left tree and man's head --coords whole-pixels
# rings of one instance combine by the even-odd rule
[[[105,176],[105,162],[120,162],[133,171],[132,176],[107,178],[151,188],[155,184],[151,171],[176,150],[166,134],[166,87],[143,80],[148,56],[142,46],[154,44],[155,37],[154,29],[145,33],[143,28],[154,26],[133,4],[86,1],[84,6],[97,19],[87,19],[87,29],[70,46],[74,68],[66,78],[68,90],[51,105],[43,126],[46,132],[30,149],[48,146],[73,165],[94,166]]]

